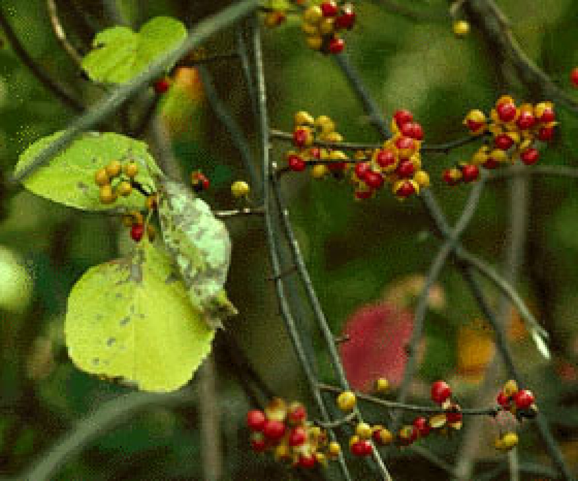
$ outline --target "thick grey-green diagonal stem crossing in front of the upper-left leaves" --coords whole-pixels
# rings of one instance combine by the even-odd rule
[[[187,38],[179,46],[163,54],[159,60],[153,62],[146,71],[140,73],[140,75],[131,80],[131,82],[117,87],[108,97],[74,121],[62,135],[40,151],[34,160],[22,169],[18,175],[13,176],[10,182],[20,182],[30,175],[40,165],[49,161],[64,149],[64,147],[71,143],[81,132],[94,127],[94,125],[98,124],[110,114],[116,112],[135,92],[144,86],[148,86],[151,80],[159,77],[165,71],[166,65],[177,62],[179,58],[183,57],[188,51],[201,45],[201,43],[213,35],[214,32],[220,31],[224,27],[227,27],[227,25],[239,20],[239,18],[246,16],[251,10],[256,8],[257,5],[258,0],[244,0],[243,2],[234,3],[227,9],[221,10],[221,12],[214,16],[199,22],[191,29]],[[2,18],[0,15],[0,22]]]

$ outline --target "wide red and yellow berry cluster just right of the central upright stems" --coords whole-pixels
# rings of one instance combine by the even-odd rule
[[[341,150],[314,146],[316,142],[342,142],[334,121],[327,116],[313,119],[307,112],[297,112],[293,144],[299,150],[286,154],[288,168],[303,171],[310,162],[314,165],[312,176],[315,178],[332,173],[342,179],[349,174],[357,199],[372,197],[386,183],[391,184],[398,199],[417,194],[420,187],[429,186],[429,176],[421,170],[423,129],[407,110],[397,110],[391,125],[394,136],[380,149],[359,150],[350,159]]]

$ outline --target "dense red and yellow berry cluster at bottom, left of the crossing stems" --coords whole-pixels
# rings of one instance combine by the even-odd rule
[[[299,402],[287,404],[275,398],[264,411],[247,413],[251,447],[255,452],[270,450],[279,461],[294,467],[313,468],[339,456],[339,443],[329,442],[327,433],[307,421],[305,407]]]

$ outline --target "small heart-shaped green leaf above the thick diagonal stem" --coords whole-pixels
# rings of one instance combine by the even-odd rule
[[[94,50],[84,57],[82,67],[95,82],[129,82],[186,36],[184,25],[169,17],[153,18],[140,32],[128,27],[108,28],[95,36]]]

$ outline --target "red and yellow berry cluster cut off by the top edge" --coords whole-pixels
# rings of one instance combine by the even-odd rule
[[[345,46],[338,32],[353,28],[355,12],[351,3],[338,5],[331,0],[307,8],[302,20],[302,29],[311,49],[325,54],[337,54]]]

